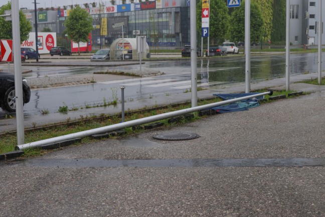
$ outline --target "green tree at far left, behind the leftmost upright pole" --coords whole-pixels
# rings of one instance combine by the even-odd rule
[[[0,15],[4,15],[6,10],[11,10],[11,3],[4,5],[0,8]],[[29,33],[32,31],[32,25],[25,17],[25,14],[19,12],[20,20],[20,34],[21,34],[21,43],[28,39]],[[6,21],[5,17],[0,17],[0,38],[1,39],[13,39],[13,29],[12,22]]]

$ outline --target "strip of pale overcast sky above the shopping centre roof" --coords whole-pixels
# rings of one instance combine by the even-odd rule
[[[116,4],[119,5],[119,1],[122,2],[121,0],[117,0]],[[36,2],[39,3],[37,4],[37,8],[51,8],[51,7],[56,8],[58,6],[63,8],[63,6],[68,6],[68,5],[76,5],[76,4],[83,5],[85,3],[92,3],[92,2],[96,2],[97,4],[99,3],[98,0],[36,0]],[[110,5],[109,1],[102,1],[102,2],[107,6]],[[7,3],[8,0],[0,0],[0,6],[6,5]],[[19,8],[34,9],[35,6],[33,3],[34,0],[19,0]]]

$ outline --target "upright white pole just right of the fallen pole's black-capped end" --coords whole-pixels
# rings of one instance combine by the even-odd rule
[[[285,86],[290,89],[290,0],[286,0],[286,30],[285,30]]]

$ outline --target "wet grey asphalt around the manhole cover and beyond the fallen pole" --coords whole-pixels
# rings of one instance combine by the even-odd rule
[[[311,94],[245,112],[1,161],[0,214],[324,216],[325,87],[294,83],[310,77],[317,75],[292,77],[290,88]],[[284,84],[280,78],[252,89]],[[153,138],[171,132],[200,137]]]

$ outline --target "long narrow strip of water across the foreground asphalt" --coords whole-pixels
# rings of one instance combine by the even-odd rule
[[[4,162],[5,163],[5,162]],[[325,158],[256,158],[256,159],[29,159],[14,166],[51,168],[100,167],[302,167],[325,166]]]

